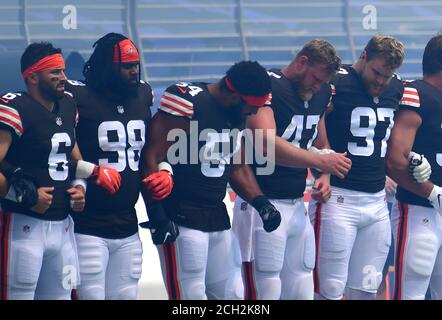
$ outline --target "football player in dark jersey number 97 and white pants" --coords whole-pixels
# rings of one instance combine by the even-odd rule
[[[403,94],[394,72],[402,43],[370,39],[353,65],[332,80],[332,111],[325,119],[331,148],[352,160],[344,179],[331,176],[326,203],[310,203],[317,245],[318,299],[374,299],[391,242],[385,195],[385,155],[394,112]]]

